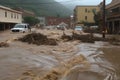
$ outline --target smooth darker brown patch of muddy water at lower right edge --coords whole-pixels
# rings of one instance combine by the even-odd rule
[[[102,48],[105,58],[114,65],[120,80],[120,48],[117,46]]]

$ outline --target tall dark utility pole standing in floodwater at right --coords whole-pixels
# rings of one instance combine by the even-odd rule
[[[106,13],[106,11],[105,11],[105,3],[106,3],[106,1],[105,0],[103,0],[103,27],[102,27],[102,37],[103,38],[105,38],[105,34],[106,34],[106,20],[105,20],[105,13]]]

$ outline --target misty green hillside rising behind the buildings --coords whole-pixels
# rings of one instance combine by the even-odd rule
[[[54,0],[0,0],[0,5],[23,8],[38,16],[70,16],[72,11]]]

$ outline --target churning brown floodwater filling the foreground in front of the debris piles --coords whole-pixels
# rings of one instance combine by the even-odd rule
[[[0,80],[119,80],[120,49],[107,42],[9,44],[0,48]]]

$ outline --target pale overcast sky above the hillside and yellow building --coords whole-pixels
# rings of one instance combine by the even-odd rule
[[[77,5],[98,5],[103,0],[55,0],[61,3],[72,4],[76,3]],[[112,0],[106,0],[106,4],[110,3]]]

